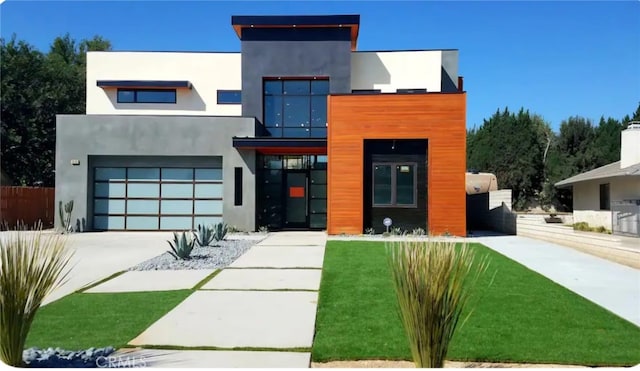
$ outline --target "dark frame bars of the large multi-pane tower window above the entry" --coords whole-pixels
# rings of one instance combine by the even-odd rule
[[[305,94],[286,94],[285,93],[285,88],[284,88],[284,84],[286,82],[305,82],[309,85],[309,92],[305,93]],[[321,81],[321,82],[326,82],[328,84],[327,88],[328,91],[326,94],[317,94],[313,92],[313,82],[315,81]],[[267,89],[266,89],[266,85],[268,83],[272,83],[272,82],[279,82],[281,84],[281,89],[279,89],[280,91],[277,93],[267,93]],[[325,117],[325,122],[324,122],[324,126],[317,126],[314,125],[314,116],[313,116],[313,101],[314,101],[314,97],[324,97],[325,100],[327,99],[327,96],[329,96],[331,94],[331,81],[329,79],[329,77],[327,76],[322,76],[322,77],[304,77],[304,76],[300,76],[300,77],[264,77],[262,79],[262,117],[263,117],[263,121],[264,121],[264,126],[265,128],[267,128],[267,130],[270,131],[276,131],[278,134],[277,135],[273,135],[274,137],[279,137],[279,138],[296,138],[296,137],[301,137],[301,138],[325,138],[327,136],[327,127],[328,127],[328,117]],[[281,102],[280,102],[280,109],[279,112],[282,114],[282,122],[279,126],[272,126],[271,124],[267,123],[267,119],[266,119],[266,98],[267,97],[279,97]],[[285,124],[285,116],[284,116],[284,112],[285,112],[285,107],[286,107],[286,98],[287,97],[304,97],[307,98],[308,102],[309,102],[309,108],[308,108],[308,118],[309,118],[309,124],[308,126],[299,126],[299,125],[286,125]],[[328,111],[328,105],[325,107],[325,110]],[[325,112],[325,114],[327,115],[327,112]],[[328,116],[328,115],[327,115]],[[307,129],[306,133],[304,136],[287,136],[285,135],[285,131],[287,129]],[[315,133],[315,134],[314,134]],[[317,135],[318,133],[322,133],[322,135]]]

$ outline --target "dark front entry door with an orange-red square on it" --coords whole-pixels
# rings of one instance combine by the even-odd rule
[[[285,176],[285,228],[308,228],[308,171],[287,171]]]

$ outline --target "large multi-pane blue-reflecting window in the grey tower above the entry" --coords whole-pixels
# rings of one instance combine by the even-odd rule
[[[272,136],[326,138],[328,79],[265,79],[263,93]]]

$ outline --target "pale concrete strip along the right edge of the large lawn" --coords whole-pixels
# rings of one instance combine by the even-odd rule
[[[518,236],[469,238],[640,326],[640,270]]]

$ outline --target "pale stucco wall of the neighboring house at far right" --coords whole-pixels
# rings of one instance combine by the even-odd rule
[[[600,210],[600,185],[607,183],[611,202],[640,199],[640,176],[576,183],[573,185],[574,223],[586,222],[592,227],[603,226],[611,230],[611,211]]]

